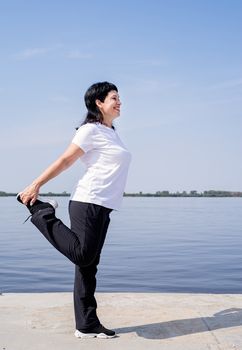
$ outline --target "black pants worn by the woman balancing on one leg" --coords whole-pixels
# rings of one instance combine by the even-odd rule
[[[96,204],[70,201],[71,228],[55,216],[52,208],[39,210],[31,218],[45,238],[76,265],[74,310],[76,329],[82,331],[100,324],[94,297],[95,276],[111,211]]]

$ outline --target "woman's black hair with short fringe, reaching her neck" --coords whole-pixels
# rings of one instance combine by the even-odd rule
[[[92,84],[87,89],[84,95],[84,101],[87,107],[87,114],[82,125],[87,123],[102,123],[103,116],[98,106],[96,105],[96,100],[104,102],[108,93],[113,90],[118,92],[117,86],[107,81]],[[114,129],[113,126],[112,128]]]

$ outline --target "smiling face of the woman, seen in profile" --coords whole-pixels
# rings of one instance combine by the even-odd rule
[[[115,90],[109,91],[103,102],[96,100],[96,104],[99,107],[104,119],[114,119],[120,115],[121,102],[119,99],[119,94]]]

